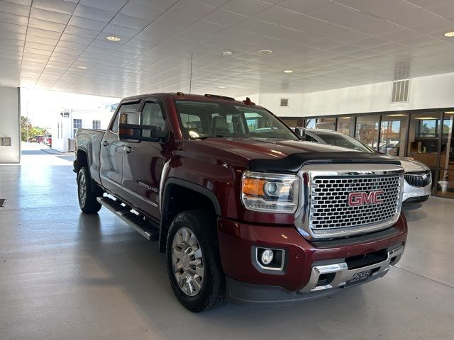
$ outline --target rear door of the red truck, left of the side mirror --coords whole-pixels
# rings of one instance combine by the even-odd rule
[[[111,193],[121,194],[121,176],[123,172],[124,144],[118,139],[118,119],[123,111],[136,111],[140,101],[121,103],[111,121],[109,129],[101,140],[101,159],[99,174],[101,184]]]

